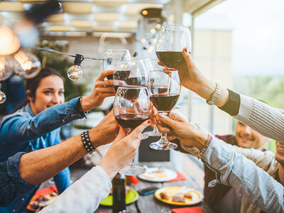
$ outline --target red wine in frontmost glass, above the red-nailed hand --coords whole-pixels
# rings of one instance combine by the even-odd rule
[[[135,129],[149,118],[150,117],[145,114],[119,114],[115,116],[115,119],[120,126],[131,130]]]

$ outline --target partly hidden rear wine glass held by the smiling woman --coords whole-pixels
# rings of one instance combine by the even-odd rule
[[[114,64],[123,60],[131,60],[129,50],[111,49],[104,52],[102,67],[103,70],[114,70]],[[112,75],[108,75],[107,79],[112,79]]]

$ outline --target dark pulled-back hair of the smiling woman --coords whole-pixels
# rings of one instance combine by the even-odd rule
[[[30,94],[29,96],[35,98],[35,91],[36,89],[38,89],[38,85],[40,84],[40,81],[45,78],[48,77],[50,75],[56,75],[62,78],[62,80],[64,80],[64,78],[62,77],[62,75],[59,74],[59,72],[57,72],[56,70],[53,70],[52,68],[48,68],[48,67],[44,67],[41,68],[40,72],[38,73],[38,75],[36,75],[35,77],[28,79],[26,81],[26,91],[30,90]],[[28,104],[30,101],[28,100],[28,98],[26,98],[23,102],[21,102],[21,104],[18,105],[18,107],[16,107],[15,109],[13,109],[13,111],[11,112],[11,114],[13,114],[15,111],[17,111],[18,109],[21,109],[23,106],[25,106],[26,104]]]

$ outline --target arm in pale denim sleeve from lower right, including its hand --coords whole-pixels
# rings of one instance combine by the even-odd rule
[[[173,116],[172,116],[173,118]],[[195,146],[202,151],[207,143],[207,133],[188,121],[175,120],[160,116],[163,123],[173,129],[185,146]],[[221,140],[213,137],[202,155],[202,161],[217,173],[217,179],[225,185],[231,185],[242,195],[265,212],[283,212],[284,188],[253,161],[231,150]]]

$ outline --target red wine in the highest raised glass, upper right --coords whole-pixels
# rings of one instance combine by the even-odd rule
[[[179,68],[185,63],[185,58],[182,56],[182,52],[176,51],[158,51],[155,52],[160,62],[166,67]]]

